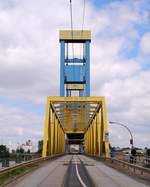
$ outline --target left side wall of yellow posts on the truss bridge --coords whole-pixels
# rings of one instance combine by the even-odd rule
[[[45,159],[47,156],[54,156],[64,152],[65,133],[48,97],[46,104],[42,158]]]

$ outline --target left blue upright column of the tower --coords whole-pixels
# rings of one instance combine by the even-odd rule
[[[65,66],[65,42],[60,42],[60,96],[64,96],[64,66]]]

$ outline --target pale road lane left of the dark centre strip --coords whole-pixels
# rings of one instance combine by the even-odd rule
[[[43,167],[17,179],[7,187],[59,187],[68,168],[66,163],[70,159],[71,156],[67,155],[49,161]]]

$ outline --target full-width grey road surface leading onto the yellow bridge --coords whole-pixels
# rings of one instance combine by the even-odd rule
[[[100,161],[84,155],[67,155],[49,161],[48,164],[26,174],[7,187],[60,187],[66,185],[67,187],[91,187],[91,181],[88,178],[92,179],[93,187],[94,184],[100,187],[148,187]],[[67,184],[66,181],[68,181]]]

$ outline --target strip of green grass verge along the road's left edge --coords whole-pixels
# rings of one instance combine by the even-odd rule
[[[37,166],[39,166],[38,163],[29,164],[26,166],[22,166],[20,168],[16,168],[15,170],[7,172],[3,175],[0,175],[0,186],[11,181],[12,179],[16,178],[19,175],[27,173],[28,171],[32,170],[33,168],[36,168]]]

